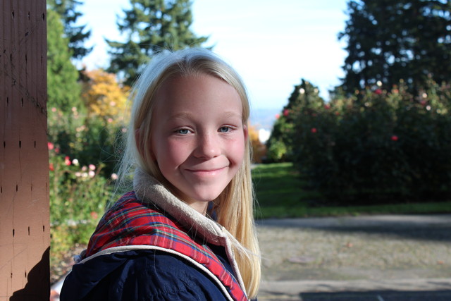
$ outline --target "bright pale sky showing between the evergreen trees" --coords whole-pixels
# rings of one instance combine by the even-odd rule
[[[94,50],[82,63],[106,68],[104,38],[120,40],[116,16],[128,0],[84,1],[80,24],[92,30],[87,46]],[[192,30],[209,36],[204,46],[242,76],[252,109],[281,110],[301,79],[328,90],[343,76],[346,44],[338,41],[345,29],[346,0],[193,0]]]

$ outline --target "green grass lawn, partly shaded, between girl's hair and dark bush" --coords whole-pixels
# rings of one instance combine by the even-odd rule
[[[290,163],[261,164],[252,171],[257,194],[257,219],[307,216],[356,216],[361,214],[445,214],[451,201],[384,204],[349,207],[312,207],[321,199],[316,191],[305,190],[305,182]]]

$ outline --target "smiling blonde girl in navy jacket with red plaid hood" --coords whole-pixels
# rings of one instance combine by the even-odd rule
[[[163,51],[133,92],[121,183],[61,300],[248,300],[257,295],[240,77],[203,49]]]

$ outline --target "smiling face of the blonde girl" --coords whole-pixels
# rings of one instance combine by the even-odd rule
[[[176,76],[156,92],[151,151],[180,199],[204,213],[242,165],[247,128],[237,91],[211,75]]]

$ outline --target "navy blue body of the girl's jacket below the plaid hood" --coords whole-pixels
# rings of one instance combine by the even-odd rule
[[[222,247],[216,247],[221,252]],[[223,249],[223,248],[222,248]],[[215,250],[215,251],[218,251]],[[231,271],[223,255],[216,255]],[[95,257],[76,264],[66,277],[61,301],[228,300],[221,289],[189,262],[167,252],[140,250]]]

